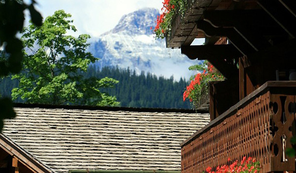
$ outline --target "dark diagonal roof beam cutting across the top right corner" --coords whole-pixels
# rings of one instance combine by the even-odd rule
[[[291,38],[296,38],[296,17],[278,0],[258,0],[259,5]]]

